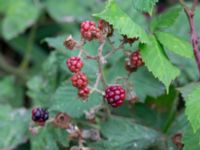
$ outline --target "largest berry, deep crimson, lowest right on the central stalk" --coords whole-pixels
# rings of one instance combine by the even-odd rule
[[[112,107],[118,107],[123,104],[126,97],[126,91],[119,85],[112,85],[106,88],[104,98]]]

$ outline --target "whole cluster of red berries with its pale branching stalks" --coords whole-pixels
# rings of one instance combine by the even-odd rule
[[[96,79],[96,82],[94,84],[94,87],[91,88],[91,91],[88,87],[88,78],[87,75],[83,72],[81,72],[81,69],[83,68],[83,61],[81,60],[81,55],[86,54],[86,58],[93,59],[97,61],[98,65],[103,65],[104,62],[101,62],[104,60],[104,58],[108,58],[112,53],[116,52],[117,49],[123,49],[123,44],[133,44],[135,41],[139,40],[137,37],[128,37],[127,35],[122,35],[122,45],[119,48],[116,48],[112,45],[112,51],[103,56],[102,53],[102,45],[105,44],[105,40],[107,37],[112,36],[113,34],[113,27],[108,22],[104,20],[99,20],[98,25],[93,21],[84,21],[81,23],[81,29],[80,33],[82,36],[82,42],[78,43],[75,41],[71,36],[69,36],[65,42],[64,45],[66,48],[72,50],[74,48],[77,48],[80,50],[79,57],[72,56],[66,61],[66,65],[68,69],[74,73],[71,77],[71,82],[74,87],[78,89],[78,96],[82,99],[88,98],[88,95],[94,91],[101,93],[104,95],[104,99],[110,104],[112,107],[118,107],[123,104],[125,98],[126,98],[126,91],[122,88],[120,85],[110,85],[107,86],[106,83],[104,83],[105,91],[101,91],[98,89],[99,81],[102,80],[102,83],[104,82],[104,79],[102,79],[102,71],[101,67],[99,67],[98,75],[99,77]],[[85,44],[85,41],[91,41],[91,40],[98,40],[100,43],[99,49],[98,49],[98,56],[90,56],[89,53],[84,51],[83,45]],[[112,42],[110,42],[112,44]],[[101,53],[101,54],[100,54]],[[125,62],[125,68],[129,72],[133,72],[137,70],[138,67],[142,66],[144,62],[142,61],[142,58],[140,56],[139,51],[133,52],[129,54],[129,57],[127,61]],[[128,95],[128,94],[127,94]]]

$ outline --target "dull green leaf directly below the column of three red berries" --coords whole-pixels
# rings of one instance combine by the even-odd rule
[[[50,111],[66,112],[71,117],[81,117],[84,111],[97,106],[101,103],[102,96],[93,93],[88,100],[84,102],[77,96],[77,90],[71,85],[71,82],[62,84],[55,92],[51,102]]]

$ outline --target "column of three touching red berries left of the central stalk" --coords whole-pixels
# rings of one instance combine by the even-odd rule
[[[66,61],[67,67],[73,73],[71,77],[72,85],[78,89],[78,96],[82,99],[86,99],[90,94],[90,89],[87,87],[88,78],[81,72],[84,65],[80,57],[72,56]]]

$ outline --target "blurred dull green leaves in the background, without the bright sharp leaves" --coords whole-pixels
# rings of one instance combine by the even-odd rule
[[[133,3],[132,0],[116,2],[145,32],[162,28],[189,40],[187,18],[183,10],[174,7],[176,3],[173,0],[159,1],[155,9],[153,6],[157,0],[148,0],[149,5],[143,5],[146,3],[144,0],[137,0],[137,3]],[[170,8],[171,6],[173,8]],[[65,60],[77,54],[77,51],[67,51],[63,41],[69,34],[79,40],[80,22],[96,19],[91,14],[99,13],[104,7],[104,0],[0,0],[0,149],[57,150],[73,144],[67,140],[66,132],[50,125],[45,126],[37,136],[30,135],[29,111],[33,106],[42,106],[50,108],[52,113],[67,112],[82,121],[83,111],[99,104],[99,95],[91,96],[89,104],[82,104],[75,96],[77,91],[67,86],[65,81],[71,73],[66,69]],[[141,13],[143,10],[153,17],[158,13],[158,19],[164,16],[169,22],[163,23],[161,20],[158,27],[150,22],[148,16]],[[163,10],[168,11],[163,14]],[[199,12],[198,7],[195,21],[200,33]],[[176,18],[172,20],[173,23],[171,16]],[[157,16],[155,18],[157,19]],[[162,23],[171,27],[166,29]],[[153,26],[152,29],[149,25]],[[112,40],[118,45],[121,36],[115,34]],[[135,51],[137,44],[127,48]],[[95,54],[97,43],[92,42],[85,48],[91,54]],[[106,45],[105,51],[109,50],[110,47]],[[198,142],[199,132],[193,136],[190,125],[186,121],[183,124],[184,101],[180,94],[175,92],[178,88],[185,96],[193,87],[184,86],[197,80],[196,64],[193,60],[176,55],[168,49],[165,49],[165,52],[172,63],[181,70],[180,76],[169,87],[168,95],[163,84],[146,67],[140,68],[130,77],[139,102],[134,106],[126,102],[123,107],[112,110],[113,119],[99,124],[103,140],[88,145],[96,147],[97,150],[156,150],[163,147],[176,150],[171,137],[177,131],[184,131],[183,140],[188,145],[191,145],[193,139]],[[104,70],[109,83],[113,82],[114,76],[127,74],[123,67],[124,60],[125,57],[120,52],[109,60]],[[96,76],[95,65],[88,61],[84,68],[91,82]],[[173,106],[177,106],[175,114]],[[170,121],[174,121],[172,127],[168,126]],[[188,136],[192,136],[193,139],[189,139]]]

